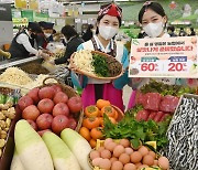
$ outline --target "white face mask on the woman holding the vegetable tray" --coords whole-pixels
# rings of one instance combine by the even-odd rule
[[[118,33],[118,31],[119,29],[112,26],[106,26],[106,25],[99,26],[99,33],[105,40],[112,39]]]

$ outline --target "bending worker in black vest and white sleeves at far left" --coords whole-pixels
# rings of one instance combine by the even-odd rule
[[[28,29],[19,32],[10,45],[9,52],[11,57],[25,59],[31,54],[43,55],[42,51],[34,47],[34,42],[38,33],[42,32],[38,23],[29,22]]]

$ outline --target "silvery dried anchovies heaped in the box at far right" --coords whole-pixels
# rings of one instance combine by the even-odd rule
[[[198,96],[184,95],[167,130],[164,153],[174,170],[198,169]]]

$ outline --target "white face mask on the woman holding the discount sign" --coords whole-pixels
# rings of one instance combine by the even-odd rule
[[[150,38],[157,38],[164,30],[164,23],[148,23],[147,25],[143,26],[143,30]]]

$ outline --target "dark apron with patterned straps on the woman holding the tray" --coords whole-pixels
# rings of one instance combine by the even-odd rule
[[[96,42],[96,40],[94,38],[91,39],[91,42],[92,42],[95,51],[102,52],[100,49],[98,49],[97,42]],[[117,56],[117,44],[116,44],[114,41],[113,41],[113,50],[111,49],[111,51],[109,53],[107,53],[107,54],[109,54],[109,55],[111,55],[113,57]],[[103,98],[102,95],[103,95],[103,84],[95,84],[95,98],[96,98],[96,102],[98,99],[100,99],[100,98]]]

